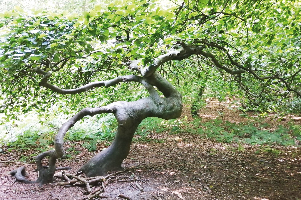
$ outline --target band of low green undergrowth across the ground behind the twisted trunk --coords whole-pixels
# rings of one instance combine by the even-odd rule
[[[101,120],[89,122],[90,124],[79,124],[71,128],[66,136],[66,141],[83,141],[82,146],[88,151],[95,151],[100,141],[113,141],[117,121],[112,115],[107,115]],[[94,127],[91,126],[94,123]],[[44,124],[47,124],[44,122]],[[98,127],[97,129],[95,127]],[[0,146],[8,151],[17,150],[27,152],[33,157],[43,151],[53,147],[54,137],[59,130],[59,125],[49,122],[48,126],[41,128],[38,125],[31,125],[23,129],[22,134],[18,134],[11,141],[2,141]],[[188,121],[187,117],[182,119],[163,120],[159,118],[144,119],[139,125],[134,141],[136,142],[165,142],[164,139],[152,139],[155,133],[185,133],[199,135],[203,138],[214,139],[217,142],[248,143],[252,145],[295,145],[296,141],[301,141],[301,126],[289,123],[289,127],[279,125],[272,130],[267,123],[260,121],[246,121],[244,123],[231,123],[214,119],[202,122],[201,118],[194,118]],[[1,149],[0,149],[1,151]],[[75,148],[67,149],[67,157],[71,154],[78,154]]]

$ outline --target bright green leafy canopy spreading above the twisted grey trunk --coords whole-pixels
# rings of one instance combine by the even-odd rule
[[[185,97],[201,88],[223,100],[241,98],[244,110],[300,108],[301,6],[298,1],[122,1],[82,15],[21,9],[1,14],[1,112],[65,113],[146,93],[137,84],[62,95],[47,88],[77,88],[129,74],[122,62],[152,63],[164,52],[202,47],[189,59],[160,67]],[[44,87],[41,87],[44,86]],[[52,89],[53,90],[53,89]]]

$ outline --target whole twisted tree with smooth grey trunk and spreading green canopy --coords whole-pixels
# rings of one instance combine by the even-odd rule
[[[53,181],[70,127],[87,115],[113,113],[118,127],[112,145],[79,169],[88,177],[104,175],[121,168],[144,118],[181,115],[181,94],[166,78],[186,86],[204,76],[208,82],[222,78],[230,82],[229,94],[246,94],[250,106],[290,101],[291,92],[301,98],[300,11],[298,2],[267,0],[165,6],[116,0],[106,10],[95,6],[81,16],[12,10],[2,14],[0,24],[1,109],[10,119],[16,111],[45,111],[55,103],[68,106],[67,113],[81,109],[62,125],[55,150],[36,157],[40,184]],[[116,86],[120,82],[128,82],[127,88]],[[144,90],[134,83],[148,95],[126,97],[135,88]],[[95,94],[107,94],[103,86],[119,88],[104,98]],[[94,107],[82,109],[81,94]],[[112,102],[114,94],[121,101]],[[99,106],[102,102],[106,105]],[[22,172],[14,173],[28,182]]]

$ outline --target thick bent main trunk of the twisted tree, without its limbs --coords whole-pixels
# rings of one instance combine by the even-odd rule
[[[87,177],[104,176],[107,171],[121,170],[122,161],[128,156],[133,135],[147,117],[163,119],[178,118],[182,113],[181,95],[176,89],[160,76],[157,72],[146,81],[152,82],[167,97],[143,98],[134,102],[116,102],[113,113],[117,119],[118,127],[113,143],[98,155],[82,166],[79,171]]]

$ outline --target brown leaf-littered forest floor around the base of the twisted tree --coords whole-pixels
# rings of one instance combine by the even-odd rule
[[[212,101],[199,115],[206,121],[220,117],[218,111],[218,103]],[[239,114],[241,112],[236,109],[228,109],[223,120],[245,121]],[[193,120],[188,107],[183,112],[183,117],[185,115],[188,120]],[[267,117],[265,121],[271,126],[279,123],[285,126],[289,120]],[[299,119],[297,121],[300,124]],[[177,142],[175,137],[181,138],[182,142]],[[129,156],[123,162],[124,168],[135,166],[123,175],[135,174],[144,180],[144,183],[139,182],[144,191],[138,190],[135,181],[111,180],[99,199],[122,199],[118,196],[123,194],[133,200],[301,200],[300,145],[238,145],[219,143],[190,133],[166,132],[150,134],[147,139],[135,136]],[[71,159],[58,160],[57,166],[70,166],[72,172],[105,147],[105,143],[99,143],[96,152],[89,152],[81,142],[67,142],[68,145],[80,153]],[[0,155],[0,160],[18,161],[20,157],[20,153],[11,152]],[[55,182],[38,187],[14,182],[9,172],[20,166],[26,167],[29,180],[36,179],[33,162],[0,163],[0,199],[77,200],[87,196],[82,193],[85,187],[63,187]]]

